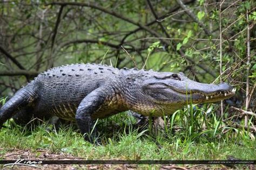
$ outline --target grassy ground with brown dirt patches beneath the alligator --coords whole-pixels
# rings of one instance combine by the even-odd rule
[[[235,129],[216,117],[177,112],[164,125],[164,130],[152,126],[138,129],[126,113],[98,122],[100,141],[97,146],[85,141],[74,126],[43,123],[24,127],[10,120],[0,130],[0,159],[17,160],[256,160],[253,133]],[[198,114],[198,115],[197,115]],[[185,116],[185,117],[184,117]],[[185,122],[183,122],[185,121]],[[150,124],[150,122],[149,122]],[[199,127],[200,126],[200,127]],[[201,127],[203,126],[203,127]],[[0,168],[3,165],[0,165]],[[43,165],[43,169],[255,169],[253,165]],[[6,168],[6,167],[5,167]],[[9,167],[10,168],[10,167]],[[15,167],[29,169],[28,167]],[[32,168],[30,168],[32,169]]]

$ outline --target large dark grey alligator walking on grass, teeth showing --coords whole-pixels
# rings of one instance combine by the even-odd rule
[[[98,118],[127,110],[166,116],[190,102],[213,103],[234,94],[235,88],[227,83],[199,83],[181,72],[72,64],[46,70],[19,89],[1,108],[0,127],[11,117],[29,122],[54,115],[76,122],[85,140],[92,141]]]

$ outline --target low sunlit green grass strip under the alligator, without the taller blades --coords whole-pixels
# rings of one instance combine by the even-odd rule
[[[0,131],[0,147],[34,152],[44,149],[87,159],[221,160],[226,159],[227,155],[243,160],[256,159],[255,141],[242,137],[209,139],[198,136],[185,140],[181,133],[172,137],[158,134],[154,139],[148,131],[138,132],[135,129],[127,133],[122,130],[112,138],[103,136],[102,146],[95,146],[84,141],[81,134],[72,127],[60,128],[57,132],[45,124],[33,130],[15,127]]]

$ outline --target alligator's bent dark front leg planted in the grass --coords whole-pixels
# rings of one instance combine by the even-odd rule
[[[107,94],[105,88],[98,88],[88,94],[79,104],[76,112],[76,121],[78,128],[84,135],[84,139],[91,143],[96,137],[96,127],[93,129],[92,115],[97,114],[97,111],[104,105]]]

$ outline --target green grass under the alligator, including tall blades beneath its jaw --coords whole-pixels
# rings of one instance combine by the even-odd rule
[[[125,112],[99,120],[100,146],[84,141],[71,125],[56,131],[46,123],[31,129],[9,121],[7,128],[0,130],[0,155],[18,148],[68,153],[89,160],[226,160],[228,155],[255,160],[256,141],[250,132],[218,121],[213,106],[179,110],[165,120],[169,123],[157,134],[151,128],[134,128],[134,118]]]

